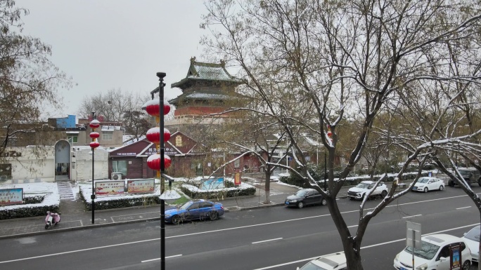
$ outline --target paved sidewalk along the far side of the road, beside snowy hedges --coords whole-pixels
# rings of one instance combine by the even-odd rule
[[[252,183],[250,183],[252,184]],[[390,186],[390,183],[386,183]],[[254,196],[223,198],[218,201],[224,205],[225,212],[236,210],[248,210],[284,205],[287,196],[295,194],[297,187],[285,184],[271,183],[271,194],[269,204],[264,204],[264,187],[253,184],[257,187]],[[338,198],[347,196],[347,189],[342,187]],[[153,222],[160,220],[160,205],[117,208],[111,210],[95,210],[94,224],[92,224],[92,212],[84,210],[84,205],[76,196],[76,201],[60,201],[61,222],[55,226],[45,229],[45,217],[25,217],[12,220],[0,220],[0,238],[32,236],[34,234],[49,234],[56,231],[68,231],[75,229],[89,229],[92,227],[105,227],[115,224],[127,224],[134,222]],[[212,200],[217,201],[217,200]],[[169,205],[165,209],[170,208]]]

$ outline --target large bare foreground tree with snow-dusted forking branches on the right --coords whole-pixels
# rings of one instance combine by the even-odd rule
[[[291,173],[302,177],[326,198],[340,234],[347,268],[363,269],[361,243],[368,222],[409,189],[396,193],[397,182],[393,182],[387,196],[368,212],[364,212],[366,196],[359,207],[359,224],[354,234],[349,232],[335,197],[375,130],[388,135],[386,145],[397,145],[399,151],[410,153],[402,162],[398,179],[415,160],[419,161],[419,177],[423,164],[437,157],[434,146],[449,149],[447,139],[453,137],[452,133],[444,133],[444,138],[419,135],[416,140],[394,144],[393,138],[399,139],[402,134],[391,133],[395,128],[385,132],[383,126],[376,126],[376,119],[383,112],[406,112],[406,107],[413,106],[403,100],[403,94],[435,96],[452,83],[470,82],[479,87],[477,74],[466,75],[460,70],[463,74],[459,76],[445,66],[447,62],[474,65],[468,64],[468,55],[463,53],[450,58],[446,44],[456,41],[451,45],[461,52],[468,46],[480,49],[477,43],[470,42],[480,27],[480,4],[461,0],[211,0],[206,6],[209,13],[201,27],[210,30],[210,38],[203,39],[208,53],[222,55],[232,65],[238,65],[249,90],[266,104],[267,110],[259,113],[269,114],[286,130],[296,152],[296,166],[301,168],[299,173],[292,169]],[[466,93],[466,88],[454,93]],[[452,102],[447,95],[438,96],[441,111],[446,112]],[[293,106],[299,101],[302,106]],[[421,101],[425,101],[421,108],[428,106],[427,99]],[[402,109],[398,109],[399,104],[404,105]],[[340,179],[335,181],[334,156],[343,140],[338,126],[353,119],[360,127],[356,143]],[[414,120],[423,123],[423,117]],[[392,126],[397,122],[385,123]],[[413,124],[414,130],[422,133],[423,129]],[[326,126],[331,127],[332,139]],[[306,156],[295,140],[297,128],[318,135],[328,150],[327,191],[316,184],[307,170]],[[478,132],[470,130],[466,136],[473,137]]]

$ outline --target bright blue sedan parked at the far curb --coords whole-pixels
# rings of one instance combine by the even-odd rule
[[[217,220],[224,215],[222,203],[205,200],[192,200],[179,208],[165,210],[165,222],[179,224],[185,220]]]

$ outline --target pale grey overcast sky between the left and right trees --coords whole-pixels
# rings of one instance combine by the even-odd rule
[[[199,28],[203,0],[15,0],[27,8],[24,34],[52,46],[52,62],[77,83],[60,90],[65,109],[77,114],[85,96],[121,88],[150,96],[165,72],[170,85],[186,77],[189,60],[202,60]]]

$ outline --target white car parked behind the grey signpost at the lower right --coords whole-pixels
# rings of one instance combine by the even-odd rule
[[[462,238],[449,234],[432,234],[421,237],[421,248],[414,249],[414,269],[416,270],[449,270],[451,255],[449,247],[461,245],[461,262],[463,270],[471,266],[471,251]],[[413,248],[406,247],[394,259],[395,269],[413,269]],[[459,258],[458,258],[459,259]]]

